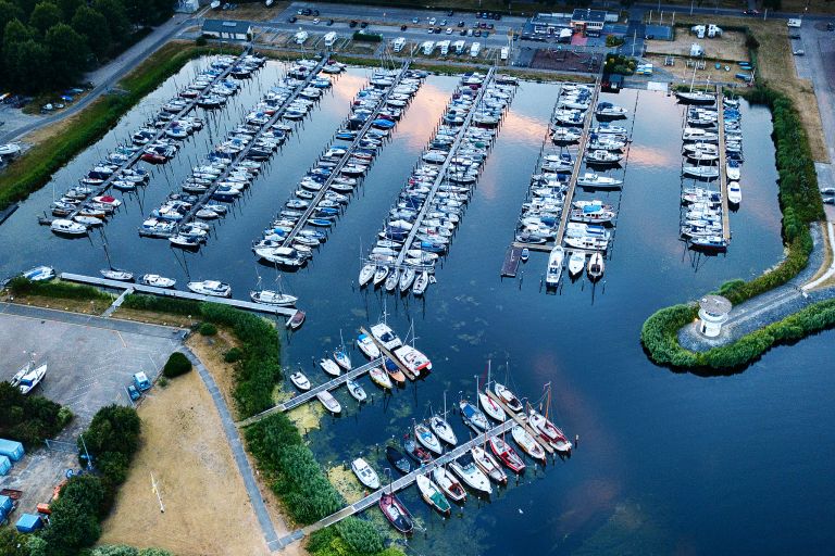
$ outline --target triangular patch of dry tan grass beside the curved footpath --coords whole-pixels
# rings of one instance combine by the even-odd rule
[[[159,546],[178,556],[269,554],[200,377],[190,372],[151,392],[139,408],[142,447],[103,525],[101,543]]]

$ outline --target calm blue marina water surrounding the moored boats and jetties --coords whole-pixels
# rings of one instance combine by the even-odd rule
[[[194,75],[199,63],[132,111],[98,144],[54,177],[61,191],[116,141],[124,140]],[[35,222],[51,202],[46,187],[0,228],[0,275],[35,264],[96,275],[107,266],[154,271],[186,281],[220,278],[236,296],[265,281],[249,245],[295,189],[338,129],[365,70],[339,77],[267,170],[221,222],[198,254],[140,239],[136,228],[188,168],[237,125],[283,66],[270,63],[177,157],[154,169],[150,186],[132,197],[103,235],[67,241]],[[556,295],[540,291],[546,256],[534,254],[516,279],[499,269],[541,147],[556,88],[523,84],[500,128],[477,190],[458,229],[438,283],[425,300],[382,295],[356,287],[360,251],[367,248],[409,170],[432,136],[456,79],[431,77],[398,124],[357,199],[308,268],[285,279],[302,302],[308,323],[288,338],[284,357],[314,381],[314,359],[373,324],[384,306],[401,336],[414,323],[418,345],[434,362],[429,378],[388,399],[367,378],[375,400],[362,409],[340,391],[341,418],[326,417],[311,431],[323,463],[362,453],[378,471],[375,446],[399,438],[413,418],[472,395],[475,377],[491,361],[495,376],[536,400],[553,386],[556,420],[581,443],[574,456],[527,473],[491,501],[470,500],[451,519],[431,513],[412,489],[403,500],[426,532],[412,554],[777,554],[827,553],[835,540],[835,349],[832,332],[770,352],[745,372],[722,378],[673,374],[653,366],[638,341],[640,325],[657,308],[694,299],[723,280],[750,278],[782,256],[771,122],[762,108],[743,106],[746,164],[744,202],[732,215],[727,255],[697,256],[677,240],[682,109],[663,93],[623,91],[611,100],[634,114],[633,144],[622,170],[622,193],[583,193],[620,206],[605,280],[568,281]],[[607,96],[608,97],[608,96]],[[633,118],[626,121],[633,125]],[[384,305],[385,300],[385,305]],[[361,361],[359,352],[352,352]],[[458,416],[450,418],[466,437]],[[369,513],[382,519],[376,511]]]

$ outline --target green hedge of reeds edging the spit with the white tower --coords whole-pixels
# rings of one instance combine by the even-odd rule
[[[735,279],[723,283],[719,293],[735,305],[788,282],[806,268],[814,247],[810,226],[824,218],[814,159],[792,100],[764,87],[757,87],[745,96],[750,102],[767,104],[772,113],[778,201],[783,212],[782,235],[787,255],[775,268],[752,280]],[[644,323],[640,340],[649,357],[661,365],[715,370],[736,368],[752,362],[775,344],[832,327],[835,317],[827,312],[827,303],[811,305],[730,345],[699,354],[678,344],[678,330],[696,318],[697,309],[690,305],[674,305],[657,311]],[[815,311],[822,311],[823,316],[814,316]]]

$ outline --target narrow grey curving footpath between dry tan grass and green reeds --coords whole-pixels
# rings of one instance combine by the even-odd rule
[[[261,497],[261,491],[258,489],[256,477],[252,475],[252,468],[249,466],[249,459],[247,459],[247,455],[244,453],[244,444],[240,440],[240,435],[238,434],[238,429],[235,427],[235,421],[229,414],[229,408],[226,406],[226,401],[223,399],[223,394],[221,394],[221,391],[209,370],[203,366],[200,359],[197,358],[191,350],[184,346],[180,351],[186,355],[186,357],[188,357],[195,368],[197,368],[197,371],[205,384],[205,388],[212,395],[212,401],[214,402],[214,406],[217,408],[217,413],[221,415],[223,432],[226,434],[226,440],[228,441],[229,447],[232,448],[232,454],[235,457],[238,471],[240,471],[240,476],[244,479],[244,485],[247,488],[249,501],[252,504],[252,509],[256,511],[256,517],[258,518],[258,522],[261,526],[261,532],[263,533],[264,540],[266,541],[266,546],[271,552],[284,547],[286,543],[281,543],[278,540],[278,534],[275,532],[273,521],[270,519],[270,514],[266,511],[264,500]],[[285,533],[289,532],[286,523],[282,522],[282,527]],[[229,542],[233,541],[234,540],[229,539]]]

